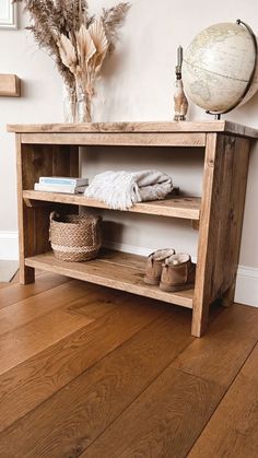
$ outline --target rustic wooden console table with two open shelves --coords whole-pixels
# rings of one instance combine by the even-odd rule
[[[192,308],[192,334],[207,327],[209,305],[234,300],[248,157],[258,131],[227,121],[9,126],[16,133],[21,283],[39,268],[92,283]],[[195,290],[167,293],[143,283],[145,259],[105,251],[77,263],[49,251],[49,212],[74,205],[106,208],[84,196],[34,191],[39,176],[78,176],[80,145],[201,146],[206,150],[201,198],[139,203],[130,212],[192,220],[199,226]],[[172,151],[173,161],[173,151]],[[162,224],[162,222],[161,222]]]

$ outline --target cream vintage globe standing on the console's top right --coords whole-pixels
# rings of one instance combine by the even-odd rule
[[[242,23],[243,24],[243,23]],[[188,97],[201,108],[226,113],[258,90],[255,37],[248,26],[220,23],[200,32],[186,49],[183,81]],[[251,74],[253,83],[242,98]]]

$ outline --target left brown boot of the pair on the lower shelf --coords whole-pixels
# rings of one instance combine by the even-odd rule
[[[162,265],[175,254],[173,248],[157,249],[152,253],[146,260],[144,282],[148,284],[160,284],[162,274]]]

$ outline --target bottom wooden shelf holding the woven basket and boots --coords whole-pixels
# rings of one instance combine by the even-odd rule
[[[105,249],[92,261],[64,262],[46,253],[26,258],[25,266],[192,308],[194,290],[166,293],[143,282],[145,258],[142,256]]]

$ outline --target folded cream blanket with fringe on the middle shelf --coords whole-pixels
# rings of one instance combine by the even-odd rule
[[[93,178],[85,196],[105,202],[110,209],[127,210],[137,202],[164,199],[172,190],[172,178],[159,171],[108,171]]]

